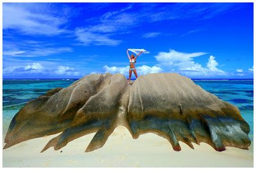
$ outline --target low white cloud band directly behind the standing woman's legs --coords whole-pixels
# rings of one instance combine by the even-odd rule
[[[125,74],[125,76],[129,75],[129,66],[125,66],[125,67],[109,67],[109,66],[104,66],[103,67],[106,73],[121,73],[121,74]],[[148,74],[148,73],[159,73],[161,71],[163,71],[163,69],[161,67],[157,67],[157,66],[139,66],[136,67],[136,71],[139,75],[143,75],[143,74]]]

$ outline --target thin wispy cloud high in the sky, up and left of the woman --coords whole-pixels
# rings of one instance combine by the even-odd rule
[[[77,40],[81,42],[80,45],[117,46],[122,43],[120,39],[113,38],[113,35],[124,34],[127,29],[134,27],[134,24],[136,25],[136,16],[125,12],[131,9],[131,6],[91,18],[90,20],[93,20],[92,25],[77,28],[75,34]]]

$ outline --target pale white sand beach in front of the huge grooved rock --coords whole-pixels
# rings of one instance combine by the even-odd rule
[[[125,127],[118,126],[102,148],[84,152],[94,134],[44,153],[42,148],[58,134],[24,141],[3,150],[3,167],[253,167],[253,145],[249,150],[227,147],[216,152],[206,143],[193,143],[193,150],[180,142],[182,150],[175,152],[156,134],[133,139]]]

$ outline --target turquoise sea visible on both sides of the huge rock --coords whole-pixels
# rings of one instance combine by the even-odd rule
[[[14,115],[31,99],[56,87],[68,87],[76,80],[3,80],[3,133]],[[253,140],[253,80],[193,80],[223,101],[234,104],[250,125]]]

